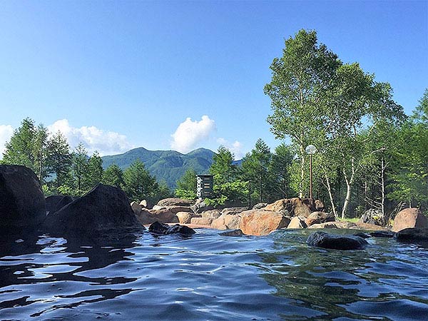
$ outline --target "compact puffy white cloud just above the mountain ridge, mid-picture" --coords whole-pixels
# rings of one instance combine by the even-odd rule
[[[213,131],[215,131],[215,121],[206,115],[202,116],[200,121],[186,118],[171,135],[173,141],[170,146],[180,153],[188,153],[197,147],[198,143],[208,139]]]

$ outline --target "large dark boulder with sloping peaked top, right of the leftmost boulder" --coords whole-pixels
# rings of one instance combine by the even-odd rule
[[[123,190],[98,184],[90,192],[55,213],[44,224],[51,233],[84,232],[143,228],[133,213]]]

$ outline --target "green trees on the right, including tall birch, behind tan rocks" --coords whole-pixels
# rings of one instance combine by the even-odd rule
[[[389,83],[374,81],[358,63],[342,63],[318,44],[315,31],[285,40],[270,69],[267,122],[275,138],[290,143],[270,153],[259,140],[240,167],[220,147],[210,168],[216,202],[307,197],[311,144],[314,196],[335,216],[370,208],[390,215],[404,205],[427,213],[428,89],[412,116],[405,115]]]

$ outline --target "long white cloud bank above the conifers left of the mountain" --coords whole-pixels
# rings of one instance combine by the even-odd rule
[[[120,133],[103,131],[95,126],[72,127],[67,119],[56,121],[48,128],[51,133],[61,131],[71,148],[76,147],[80,142],[83,143],[89,154],[98,151],[101,156],[113,155],[133,148],[126,136]]]

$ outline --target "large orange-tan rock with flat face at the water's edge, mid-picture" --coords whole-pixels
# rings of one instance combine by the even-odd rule
[[[267,235],[290,223],[289,218],[270,210],[245,210],[240,216],[240,230],[246,235]]]

